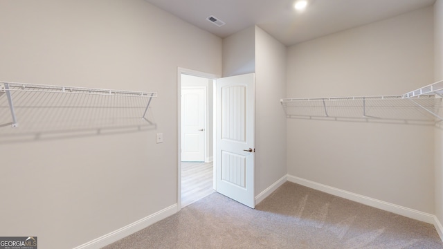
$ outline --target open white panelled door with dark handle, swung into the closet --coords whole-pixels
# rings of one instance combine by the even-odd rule
[[[217,192],[255,208],[255,75],[237,75],[216,84]]]

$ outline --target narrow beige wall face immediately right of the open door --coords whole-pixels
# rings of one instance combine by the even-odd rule
[[[280,98],[286,95],[287,48],[255,27],[255,194],[287,174],[286,117]]]

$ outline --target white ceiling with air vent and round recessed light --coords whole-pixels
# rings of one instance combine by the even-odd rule
[[[282,44],[300,42],[431,6],[435,0],[308,0],[303,12],[296,0],[145,0],[221,38],[257,25]],[[213,15],[226,25],[217,27]]]

